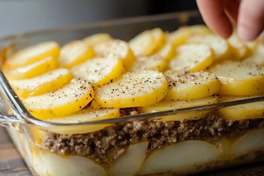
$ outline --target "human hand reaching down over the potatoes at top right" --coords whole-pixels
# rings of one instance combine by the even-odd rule
[[[196,0],[205,23],[218,35],[228,38],[237,23],[238,36],[254,40],[264,29],[264,0]]]

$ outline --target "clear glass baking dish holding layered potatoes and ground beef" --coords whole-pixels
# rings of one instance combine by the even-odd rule
[[[1,61],[10,52],[54,40],[60,45],[105,32],[128,41],[155,27],[174,31],[203,24],[200,13],[181,12],[35,31],[0,40]],[[251,163],[264,158],[264,97],[209,104],[107,120],[59,124],[30,115],[0,72],[0,125],[7,131],[34,176],[188,175]],[[249,120],[228,121],[219,110],[262,106]],[[133,109],[131,109],[133,111]],[[161,122],[161,117],[196,116],[201,120]],[[246,111],[245,111],[246,113]]]

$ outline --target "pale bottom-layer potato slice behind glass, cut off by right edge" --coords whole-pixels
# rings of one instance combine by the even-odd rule
[[[264,129],[248,131],[231,145],[230,155],[237,156],[252,151],[264,151],[263,136]]]

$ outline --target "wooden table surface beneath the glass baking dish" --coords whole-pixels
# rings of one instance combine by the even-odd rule
[[[32,176],[3,127],[0,127],[0,176]],[[193,176],[264,176],[264,161]]]

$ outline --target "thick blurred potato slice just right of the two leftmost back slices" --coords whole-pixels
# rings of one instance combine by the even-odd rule
[[[84,41],[76,40],[62,46],[58,60],[61,67],[71,68],[94,56],[95,53],[91,46]]]

